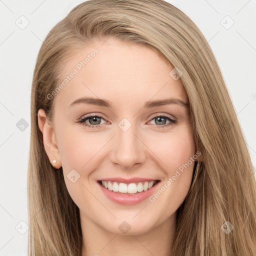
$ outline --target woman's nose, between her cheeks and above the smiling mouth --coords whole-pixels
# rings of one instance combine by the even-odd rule
[[[146,145],[135,125],[123,131],[117,126],[117,134],[111,142],[110,161],[124,169],[131,169],[146,159]]]

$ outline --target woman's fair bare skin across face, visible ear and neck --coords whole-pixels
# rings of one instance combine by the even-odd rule
[[[60,82],[94,48],[99,53],[54,96],[54,125],[45,122],[43,109],[38,111],[49,161],[56,159],[55,166],[62,166],[65,185],[80,209],[82,255],[169,255],[176,210],[189,190],[194,162],[154,202],[120,205],[110,201],[96,181],[144,177],[159,179],[159,188],[164,185],[196,152],[189,108],[142,106],[168,97],[188,102],[187,95],[180,79],[169,75],[172,67],[154,51],[115,38],[79,49],[63,66]],[[68,107],[83,96],[107,99],[113,106]],[[91,113],[103,117],[98,119],[100,127],[77,122]],[[170,121],[157,122],[154,114],[177,122],[166,126]],[[125,132],[118,126],[123,118],[131,124]],[[95,126],[96,121],[90,118],[86,123]],[[72,169],[80,175],[74,183],[67,177]],[[123,221],[130,226],[125,234],[118,228]]]

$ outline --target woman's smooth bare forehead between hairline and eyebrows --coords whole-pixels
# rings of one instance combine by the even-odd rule
[[[151,48],[108,38],[79,47],[62,66],[56,104],[69,105],[81,96],[106,98],[120,104],[143,104],[175,97],[187,101],[184,87]],[[132,102],[130,102],[132,100]]]

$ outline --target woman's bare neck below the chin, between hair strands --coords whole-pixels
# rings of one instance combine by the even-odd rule
[[[170,256],[176,212],[142,234],[117,234],[97,225],[80,212],[82,229],[81,256]]]

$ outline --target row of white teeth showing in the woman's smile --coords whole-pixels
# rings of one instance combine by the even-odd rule
[[[107,188],[110,191],[114,192],[120,192],[120,193],[128,193],[128,194],[134,194],[137,192],[142,192],[143,190],[146,191],[149,188],[151,188],[156,183],[156,180],[152,180],[150,182],[138,182],[138,183],[117,183],[117,182],[111,182],[111,181],[101,181],[102,186]]]

